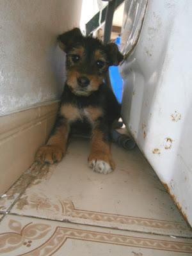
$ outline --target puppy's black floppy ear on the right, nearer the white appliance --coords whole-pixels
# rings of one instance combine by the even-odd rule
[[[106,45],[106,51],[108,53],[109,65],[118,66],[119,63],[124,60],[123,54],[118,51],[118,47],[115,43],[109,43]]]

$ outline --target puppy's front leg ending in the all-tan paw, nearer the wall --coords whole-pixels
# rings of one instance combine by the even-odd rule
[[[45,146],[36,152],[35,160],[40,163],[57,163],[63,158],[67,149],[69,125],[66,120],[58,119],[52,132],[52,136]]]

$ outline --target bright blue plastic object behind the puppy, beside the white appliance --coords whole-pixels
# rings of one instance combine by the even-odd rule
[[[115,40],[115,44],[120,47],[121,44],[121,38],[118,36]],[[124,88],[124,83],[123,79],[120,76],[118,72],[118,67],[117,66],[111,66],[109,67],[109,77],[111,80],[111,86],[113,88],[113,92],[115,94],[116,99],[118,100],[119,103],[122,102],[122,94],[123,94],[123,88]]]

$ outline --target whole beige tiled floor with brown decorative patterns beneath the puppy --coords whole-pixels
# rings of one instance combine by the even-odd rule
[[[87,166],[88,141],[33,166],[0,198],[0,255],[192,255],[186,225],[138,148],[113,145],[116,170]]]

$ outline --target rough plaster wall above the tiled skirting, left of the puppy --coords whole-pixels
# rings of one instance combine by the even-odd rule
[[[65,54],[56,36],[80,15],[81,0],[1,0],[0,115],[58,99]]]

